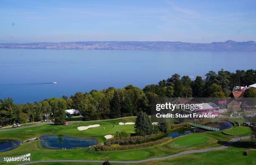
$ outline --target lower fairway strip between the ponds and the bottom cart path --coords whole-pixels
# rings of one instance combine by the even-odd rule
[[[191,140],[192,139],[192,140]],[[31,153],[31,161],[42,160],[142,160],[180,153],[185,150],[196,150],[220,146],[218,141],[228,141],[229,136],[220,132],[190,134],[176,138],[169,143],[136,150],[103,152],[89,150],[46,150],[38,141],[21,145],[15,150],[0,153],[2,156],[17,156],[20,153]],[[13,164],[13,163],[9,163]]]

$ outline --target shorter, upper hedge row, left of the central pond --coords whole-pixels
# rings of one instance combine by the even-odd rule
[[[144,141],[148,141],[151,139],[157,138],[156,134],[151,134],[151,135],[145,135],[145,136],[131,136],[131,137],[115,137],[106,140],[105,145],[113,145],[113,144],[136,144],[136,143],[141,143]]]

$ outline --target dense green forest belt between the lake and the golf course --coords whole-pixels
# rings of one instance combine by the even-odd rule
[[[109,87],[101,91],[77,92],[61,98],[49,98],[40,102],[14,104],[13,99],[0,100],[0,125],[11,125],[14,122],[36,122],[55,119],[55,123],[64,123],[65,110],[79,110],[84,120],[100,120],[135,116],[140,111],[150,113],[152,97],[228,97],[235,86],[248,86],[256,83],[256,70],[236,70],[235,73],[209,71],[205,80],[197,76],[174,74],[158,84],[146,85],[143,90],[128,85],[122,89]],[[256,90],[245,94],[256,95]]]

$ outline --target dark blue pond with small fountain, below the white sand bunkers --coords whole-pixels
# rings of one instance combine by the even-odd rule
[[[52,150],[87,148],[98,144],[95,138],[77,138],[66,135],[44,135],[39,139],[42,148]]]

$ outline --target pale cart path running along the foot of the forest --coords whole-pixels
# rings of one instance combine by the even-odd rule
[[[107,119],[107,120],[90,120],[90,121],[68,121],[70,123],[74,122],[95,122],[95,121],[108,121],[108,120],[117,120],[117,119],[125,119],[125,118],[130,118],[130,117],[136,117],[136,116],[128,116],[128,117],[120,117],[120,118],[115,118],[115,119]],[[34,124],[34,125],[28,125],[24,127],[16,127],[16,128],[8,128],[8,129],[0,129],[0,132],[8,131],[8,130],[18,130],[18,129],[23,129],[23,128],[30,128],[30,127],[37,127],[40,125],[45,125],[45,124],[54,124],[54,122],[41,122],[39,124]]]

